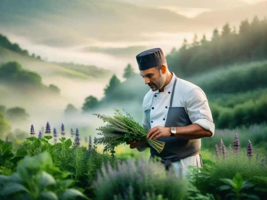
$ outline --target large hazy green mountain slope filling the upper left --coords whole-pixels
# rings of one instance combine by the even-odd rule
[[[203,27],[170,10],[108,0],[1,0],[0,19],[1,29],[54,46],[140,41],[142,33]]]

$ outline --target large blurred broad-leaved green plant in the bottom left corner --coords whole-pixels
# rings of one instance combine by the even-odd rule
[[[75,199],[86,198],[79,190],[69,189],[73,180],[69,173],[54,167],[48,152],[27,155],[11,176],[0,176],[1,199]]]

